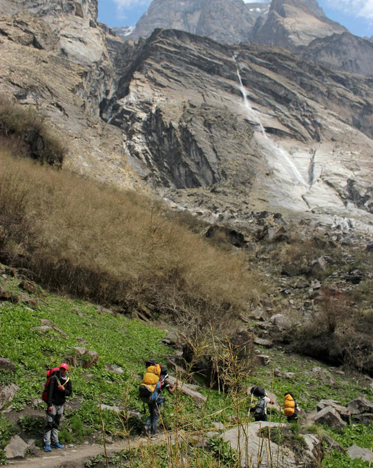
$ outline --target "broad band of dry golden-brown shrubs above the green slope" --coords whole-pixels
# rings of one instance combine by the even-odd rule
[[[256,300],[238,255],[169,222],[154,201],[6,154],[0,165],[0,204],[9,207],[2,254],[46,287],[130,312],[145,305],[196,330],[209,321],[224,329]],[[26,225],[10,228],[20,219]]]

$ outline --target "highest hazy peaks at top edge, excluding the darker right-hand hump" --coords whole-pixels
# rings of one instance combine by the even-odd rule
[[[181,29],[227,44],[250,40],[288,48],[346,30],[327,19],[316,0],[153,0],[129,37],[149,37],[155,28]]]

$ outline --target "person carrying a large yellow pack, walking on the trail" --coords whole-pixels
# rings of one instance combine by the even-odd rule
[[[157,439],[156,431],[158,420],[160,418],[160,406],[165,402],[166,398],[162,397],[161,392],[165,388],[172,395],[178,388],[178,381],[171,386],[167,377],[167,369],[165,366],[160,366],[155,361],[149,360],[145,363],[146,373],[142,379],[142,384],[139,388],[140,399],[148,404],[149,417],[144,425],[144,434],[149,435],[150,439]]]

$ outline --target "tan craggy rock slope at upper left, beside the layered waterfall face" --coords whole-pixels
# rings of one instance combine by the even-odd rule
[[[2,2],[2,14],[6,7]],[[102,30],[75,15],[55,19],[19,12],[0,16],[0,49],[0,98],[37,109],[66,142],[65,168],[119,186],[138,185],[126,170],[120,130],[99,118],[100,102],[115,89]]]

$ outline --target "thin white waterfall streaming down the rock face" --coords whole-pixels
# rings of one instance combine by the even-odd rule
[[[242,93],[243,102],[245,105],[246,115],[247,118],[259,126],[260,132],[262,134],[261,141],[259,141],[260,145],[262,145],[263,149],[265,149],[265,155],[267,157],[268,163],[274,170],[280,172],[280,174],[284,174],[284,171],[287,173],[287,176],[290,177],[291,182],[294,185],[304,186],[305,188],[309,188],[309,184],[305,181],[302,174],[300,174],[298,168],[294,164],[291,159],[291,156],[287,151],[284,150],[283,147],[280,145],[276,145],[271,138],[269,138],[265,132],[265,128],[260,121],[258,113],[253,109],[249,100],[247,99],[247,90],[242,83],[242,78],[240,75],[240,69],[238,63],[236,61],[236,57],[233,55],[233,60],[236,62],[237,66],[237,75],[238,81],[240,82],[240,91]]]

